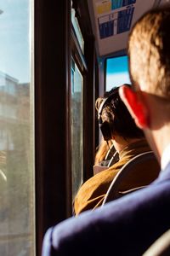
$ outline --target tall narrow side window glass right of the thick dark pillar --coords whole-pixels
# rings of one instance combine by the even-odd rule
[[[83,178],[83,79],[76,63],[71,62],[71,170],[72,196]]]

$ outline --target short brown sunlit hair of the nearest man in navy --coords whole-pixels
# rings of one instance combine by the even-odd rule
[[[140,18],[129,36],[128,56],[134,86],[170,99],[170,8]]]

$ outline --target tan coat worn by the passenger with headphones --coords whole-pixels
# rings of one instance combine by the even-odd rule
[[[101,206],[107,189],[116,173],[119,172],[128,160],[147,151],[150,151],[150,147],[145,139],[140,140],[138,143],[132,143],[122,149],[119,154],[120,160],[116,164],[103,172],[99,172],[83,183],[75,197],[74,210],[76,215]],[[147,185],[155,180],[159,174],[158,170],[155,170],[152,166],[146,166],[142,171],[139,170],[138,177],[130,177],[130,179],[123,183],[121,191]]]

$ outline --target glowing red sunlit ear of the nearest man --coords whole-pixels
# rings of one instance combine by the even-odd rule
[[[127,85],[122,85],[119,88],[119,94],[122,101],[125,103],[128,111],[131,113],[136,125],[141,129],[149,127],[149,118],[147,106],[144,102],[144,97],[140,91],[133,91]]]

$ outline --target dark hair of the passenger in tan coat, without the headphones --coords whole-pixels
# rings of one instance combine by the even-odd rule
[[[130,84],[126,85],[130,86]],[[105,96],[108,101],[103,106],[102,115],[105,113],[105,121],[109,123],[111,133],[113,135],[118,134],[124,139],[144,137],[143,131],[137,127],[127,107],[122,102],[118,88],[116,87],[106,92]],[[101,98],[97,102],[96,108],[99,109],[99,105],[102,102]]]

